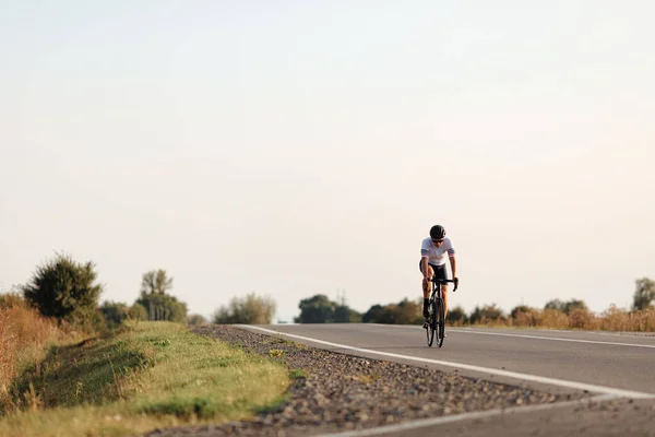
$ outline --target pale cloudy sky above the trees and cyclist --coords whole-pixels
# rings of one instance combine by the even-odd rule
[[[628,307],[655,277],[655,3],[0,0],[0,283],[66,251],[250,292]]]

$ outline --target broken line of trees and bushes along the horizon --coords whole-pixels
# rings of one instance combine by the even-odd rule
[[[178,300],[168,292],[172,288],[172,277],[165,270],[145,272],[141,279],[139,296],[127,303],[105,302],[99,305],[104,285],[97,283],[97,273],[93,262],[80,263],[68,255],[57,255],[53,259],[38,265],[27,284],[20,286],[22,298],[37,308],[46,317],[62,323],[97,330],[114,328],[126,320],[167,320],[201,324],[206,322],[201,315],[189,315],[187,304]],[[0,304],[2,304],[0,295]],[[632,311],[652,308],[655,303],[655,281],[641,277],[635,281]],[[324,294],[301,299],[298,304],[300,315],[294,319],[297,323],[388,323],[420,324],[422,300],[404,298],[397,304],[372,305],[367,311],[358,312],[350,308],[345,299],[331,300]],[[267,324],[273,321],[276,304],[270,297],[250,293],[245,297],[233,297],[228,305],[222,306],[211,316],[214,323],[253,323]],[[575,315],[587,311],[582,300],[548,302],[543,311],[557,311]],[[466,314],[461,306],[451,308],[448,314],[450,324],[475,324],[489,320],[520,320],[523,324],[537,326],[541,317],[538,309],[516,306],[505,314],[495,304],[476,306]]]

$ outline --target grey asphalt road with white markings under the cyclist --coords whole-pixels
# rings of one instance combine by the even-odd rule
[[[420,327],[276,324],[252,327],[354,355],[551,392],[586,390],[592,405],[519,409],[489,416],[352,436],[639,435],[655,436],[655,336],[528,329],[450,328],[443,347],[428,347]],[[264,332],[267,332],[264,331]],[[271,332],[267,332],[271,333]],[[436,418],[438,421],[438,418]]]

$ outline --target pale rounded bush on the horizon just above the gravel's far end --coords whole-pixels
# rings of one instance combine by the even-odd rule
[[[270,324],[275,315],[276,304],[270,297],[260,297],[254,293],[243,298],[233,297],[227,307],[214,312],[214,323],[230,324]]]

